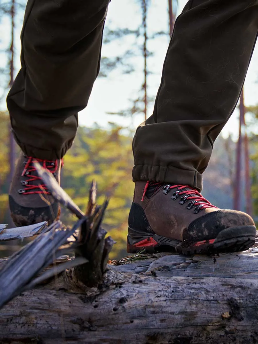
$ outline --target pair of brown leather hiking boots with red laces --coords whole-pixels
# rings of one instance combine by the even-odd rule
[[[21,154],[11,184],[9,203],[17,226],[52,222],[59,204],[33,167],[33,158]],[[37,159],[60,182],[61,160]],[[48,196],[48,204],[40,197]],[[252,218],[222,210],[188,185],[136,182],[128,219],[127,251],[176,250],[183,254],[245,250],[255,243]]]

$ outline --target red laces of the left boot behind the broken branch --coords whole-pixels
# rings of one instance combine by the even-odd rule
[[[36,169],[33,166],[33,162],[37,161],[39,162],[43,168],[47,169],[49,172],[53,173],[55,175],[57,169],[58,169],[58,160],[42,160],[42,159],[35,159],[33,157],[27,157],[28,161],[26,162],[24,166],[24,170],[22,172],[22,176],[26,176],[26,181],[21,181],[21,184],[24,187],[24,189],[20,189],[19,193],[23,195],[31,195],[31,194],[47,194],[49,195],[50,192],[47,190],[47,187],[45,184],[37,184],[33,185],[30,184],[30,182],[34,182],[37,180],[42,180],[36,173]],[[63,165],[63,160],[61,160],[61,163]],[[32,174],[33,173],[33,174]]]

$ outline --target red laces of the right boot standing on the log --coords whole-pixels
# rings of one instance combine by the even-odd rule
[[[148,181],[145,184],[144,190],[143,190],[143,195],[142,195],[142,201],[144,200],[144,196],[147,192],[147,189],[150,185],[150,182]],[[151,185],[164,185],[163,183],[151,183]],[[190,190],[183,190],[184,188],[190,189]],[[189,185],[170,185],[170,184],[165,184],[163,193],[168,193],[169,190],[175,189],[177,190],[173,193],[172,198],[175,200],[179,196],[181,196],[180,203],[184,204],[186,201],[190,201],[190,203],[187,205],[187,209],[191,209],[192,207],[197,207],[197,211],[199,212],[202,209],[205,208],[218,208],[215,205],[211,204],[206,198],[204,198],[200,192],[198,192],[196,189],[193,189]]]

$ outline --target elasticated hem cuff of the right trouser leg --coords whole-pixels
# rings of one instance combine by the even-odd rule
[[[189,185],[198,191],[202,190],[203,177],[197,171],[182,170],[174,166],[135,165],[132,170],[134,182],[153,181]]]

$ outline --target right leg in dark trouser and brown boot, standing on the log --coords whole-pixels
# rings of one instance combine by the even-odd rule
[[[244,225],[246,228],[230,230],[227,245],[244,249],[244,239],[238,246],[234,241],[237,232],[243,238],[247,234],[246,247],[253,240],[248,240],[248,235],[255,235],[254,222],[248,215],[218,210],[196,192],[202,189],[202,173],[214,140],[232,114],[243,87],[257,38],[257,17],[258,3],[254,0],[191,0],[176,20],[153,115],[138,127],[133,140],[136,191],[131,211],[134,217],[129,216],[132,229],[137,228],[133,219],[141,219],[140,232],[150,228],[182,246],[183,241],[190,245],[191,240],[201,242],[200,238],[214,241],[224,229]],[[145,183],[141,181],[152,182],[143,202]],[[171,189],[177,192],[172,200],[168,197]],[[195,201],[189,209],[188,201]],[[194,238],[198,228],[202,228],[201,234]],[[130,233],[129,239],[137,237],[129,229]],[[139,240],[131,240],[129,250],[133,251],[137,243]],[[155,243],[151,246],[146,241],[146,245],[154,247]]]

